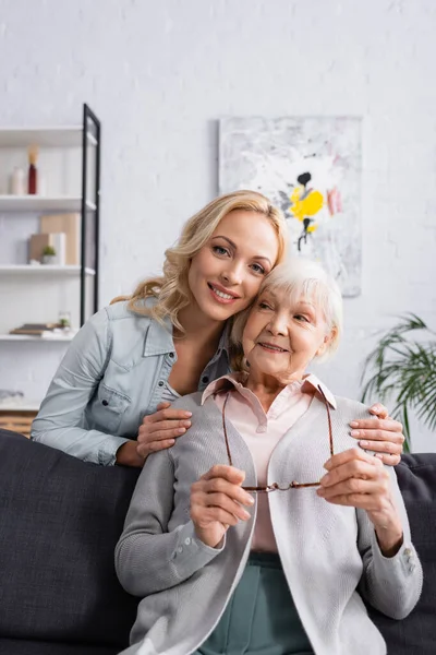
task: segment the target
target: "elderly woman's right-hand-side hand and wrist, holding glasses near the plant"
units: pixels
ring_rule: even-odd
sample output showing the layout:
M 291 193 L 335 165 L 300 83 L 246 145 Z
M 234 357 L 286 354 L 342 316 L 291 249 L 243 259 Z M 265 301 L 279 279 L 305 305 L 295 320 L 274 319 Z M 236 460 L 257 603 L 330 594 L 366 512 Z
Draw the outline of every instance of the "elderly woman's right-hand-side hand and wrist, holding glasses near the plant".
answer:
M 317 495 L 334 504 L 365 510 L 382 552 L 392 557 L 402 544 L 402 526 L 380 460 L 353 448 L 334 455 L 324 466 L 328 473 Z

